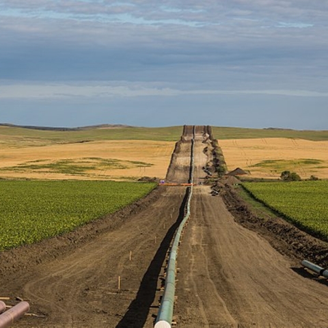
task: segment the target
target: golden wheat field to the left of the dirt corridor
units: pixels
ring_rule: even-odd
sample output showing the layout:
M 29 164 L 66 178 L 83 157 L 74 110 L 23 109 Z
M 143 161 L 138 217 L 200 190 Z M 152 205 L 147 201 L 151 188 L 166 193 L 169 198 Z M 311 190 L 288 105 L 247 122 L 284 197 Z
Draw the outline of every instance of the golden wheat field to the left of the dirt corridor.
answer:
M 0 148 L 1 178 L 165 178 L 174 142 L 113 140 Z

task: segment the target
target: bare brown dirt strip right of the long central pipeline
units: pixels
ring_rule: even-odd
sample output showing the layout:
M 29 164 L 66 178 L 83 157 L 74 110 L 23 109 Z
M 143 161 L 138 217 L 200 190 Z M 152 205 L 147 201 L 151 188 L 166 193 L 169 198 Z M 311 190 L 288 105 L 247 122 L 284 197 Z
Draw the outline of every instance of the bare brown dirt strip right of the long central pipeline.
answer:
M 239 225 L 208 187 L 194 190 L 178 254 L 178 327 L 327 327 L 327 281 Z

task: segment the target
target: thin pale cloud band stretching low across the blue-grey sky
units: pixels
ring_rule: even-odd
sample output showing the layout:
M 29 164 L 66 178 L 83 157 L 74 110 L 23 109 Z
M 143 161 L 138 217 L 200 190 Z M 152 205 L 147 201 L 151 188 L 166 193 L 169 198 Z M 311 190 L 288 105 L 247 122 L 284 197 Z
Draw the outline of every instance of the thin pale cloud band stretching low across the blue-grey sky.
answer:
M 159 83 L 158 83 L 159 84 Z M 0 99 L 59 99 L 112 98 L 141 96 L 195 96 L 195 95 L 269 95 L 296 97 L 328 97 L 328 92 L 309 90 L 179 90 L 154 83 L 70 83 L 70 84 L 2 84 Z

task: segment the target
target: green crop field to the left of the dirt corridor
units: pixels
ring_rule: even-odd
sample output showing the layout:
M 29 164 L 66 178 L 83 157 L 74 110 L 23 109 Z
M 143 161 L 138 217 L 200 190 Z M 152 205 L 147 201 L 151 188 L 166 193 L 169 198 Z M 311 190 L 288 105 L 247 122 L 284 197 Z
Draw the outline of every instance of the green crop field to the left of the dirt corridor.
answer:
M 114 213 L 154 189 L 153 183 L 0 181 L 0 251 L 36 243 Z

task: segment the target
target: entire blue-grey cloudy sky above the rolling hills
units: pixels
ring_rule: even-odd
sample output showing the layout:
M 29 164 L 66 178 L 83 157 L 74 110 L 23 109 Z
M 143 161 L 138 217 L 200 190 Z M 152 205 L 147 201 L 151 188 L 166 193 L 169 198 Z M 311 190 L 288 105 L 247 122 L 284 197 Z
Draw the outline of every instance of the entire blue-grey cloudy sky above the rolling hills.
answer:
M 0 0 L 0 122 L 328 130 L 328 0 Z

